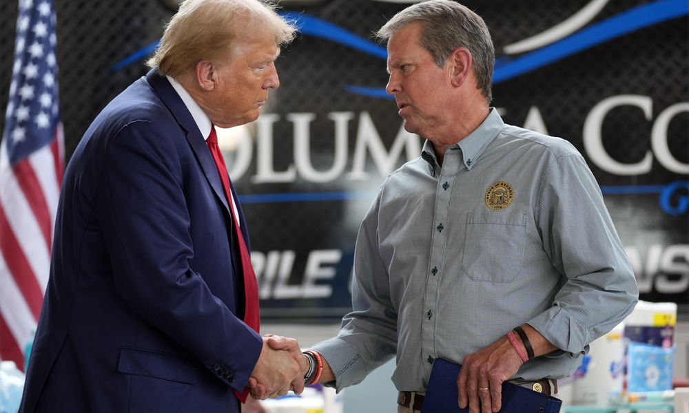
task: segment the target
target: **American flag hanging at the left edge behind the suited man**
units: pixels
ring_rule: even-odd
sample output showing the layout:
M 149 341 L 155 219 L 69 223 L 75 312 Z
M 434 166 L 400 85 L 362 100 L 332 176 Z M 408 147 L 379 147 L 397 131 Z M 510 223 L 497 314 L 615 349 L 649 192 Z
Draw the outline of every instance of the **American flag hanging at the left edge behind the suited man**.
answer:
M 0 359 L 23 368 L 41 313 L 63 173 L 52 0 L 19 3 L 0 142 Z

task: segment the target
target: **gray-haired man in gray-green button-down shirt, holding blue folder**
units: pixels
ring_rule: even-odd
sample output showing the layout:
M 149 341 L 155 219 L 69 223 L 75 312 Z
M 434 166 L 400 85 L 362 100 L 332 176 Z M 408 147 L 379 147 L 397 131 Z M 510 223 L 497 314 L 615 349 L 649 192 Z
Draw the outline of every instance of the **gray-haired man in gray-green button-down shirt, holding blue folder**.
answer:
M 418 3 L 378 34 L 387 92 L 426 143 L 362 222 L 353 311 L 313 346 L 318 381 L 341 390 L 396 355 L 399 412 L 415 412 L 441 357 L 463 365 L 472 413 L 500 410 L 507 380 L 553 394 L 638 299 L 598 184 L 569 142 L 489 106 L 493 44 L 471 10 Z

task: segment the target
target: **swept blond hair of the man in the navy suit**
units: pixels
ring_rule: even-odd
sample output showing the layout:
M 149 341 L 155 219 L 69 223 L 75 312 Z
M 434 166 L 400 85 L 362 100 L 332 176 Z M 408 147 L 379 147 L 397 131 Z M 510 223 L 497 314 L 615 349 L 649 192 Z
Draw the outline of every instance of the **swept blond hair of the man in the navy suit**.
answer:
M 238 19 L 246 19 L 245 23 Z M 276 13 L 276 6 L 259 0 L 186 0 L 165 26 L 163 39 L 146 61 L 163 76 L 175 78 L 202 60 L 226 53 L 242 30 L 264 28 L 278 46 L 292 41 L 296 28 Z

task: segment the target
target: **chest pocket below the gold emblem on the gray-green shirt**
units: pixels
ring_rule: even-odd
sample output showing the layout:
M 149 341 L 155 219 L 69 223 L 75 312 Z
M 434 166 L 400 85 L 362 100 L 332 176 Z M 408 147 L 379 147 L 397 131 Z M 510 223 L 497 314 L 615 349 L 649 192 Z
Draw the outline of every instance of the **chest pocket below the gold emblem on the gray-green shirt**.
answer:
M 526 213 L 468 213 L 462 270 L 474 281 L 508 283 L 524 260 Z

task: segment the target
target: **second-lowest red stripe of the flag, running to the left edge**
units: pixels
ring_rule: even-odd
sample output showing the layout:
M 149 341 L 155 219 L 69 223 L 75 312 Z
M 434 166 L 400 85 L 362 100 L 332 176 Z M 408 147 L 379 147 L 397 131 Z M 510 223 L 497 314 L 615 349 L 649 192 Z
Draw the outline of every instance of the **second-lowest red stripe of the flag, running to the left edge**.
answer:
M 31 313 L 36 319 L 39 319 L 41 314 L 41 306 L 43 305 L 43 293 L 41 293 L 41 286 L 34 275 L 34 271 L 31 269 L 24 251 L 19 246 L 17 242 L 17 237 L 12 231 L 12 227 L 7 221 L 7 216 L 5 215 L 5 210 L 0 204 L 0 251 L 3 257 L 5 257 L 5 262 L 7 268 L 14 278 L 14 282 L 17 283 L 17 287 L 21 291 L 21 295 L 26 301 L 26 305 L 31 310 Z

